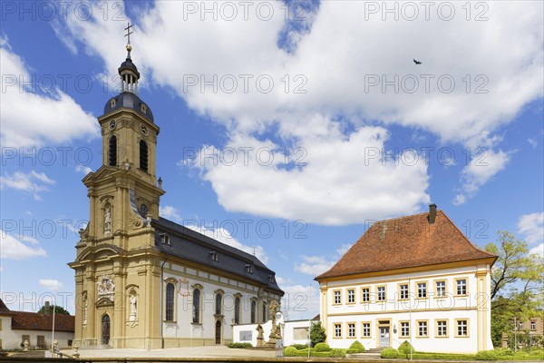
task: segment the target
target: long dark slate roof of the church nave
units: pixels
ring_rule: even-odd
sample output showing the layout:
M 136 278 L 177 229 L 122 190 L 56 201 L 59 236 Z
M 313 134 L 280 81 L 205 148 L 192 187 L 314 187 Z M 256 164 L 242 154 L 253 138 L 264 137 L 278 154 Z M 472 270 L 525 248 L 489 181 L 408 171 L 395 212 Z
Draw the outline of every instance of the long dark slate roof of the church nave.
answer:
M 151 225 L 155 228 L 155 247 L 160 252 L 253 280 L 283 295 L 277 286 L 276 273 L 252 254 L 164 218 L 151 221 Z M 169 235 L 170 244 L 164 243 L 163 233 Z M 212 252 L 217 254 L 217 260 L 212 258 Z

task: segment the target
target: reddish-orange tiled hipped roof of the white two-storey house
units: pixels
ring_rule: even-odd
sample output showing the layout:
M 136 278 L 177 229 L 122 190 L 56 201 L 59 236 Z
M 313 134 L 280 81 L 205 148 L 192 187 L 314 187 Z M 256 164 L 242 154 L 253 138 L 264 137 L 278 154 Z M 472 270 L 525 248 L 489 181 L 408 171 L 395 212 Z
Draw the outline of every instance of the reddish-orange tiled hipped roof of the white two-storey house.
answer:
M 478 249 L 443 211 L 375 222 L 332 269 L 315 280 L 466 260 L 496 259 Z M 493 260 L 494 262 L 494 260 Z

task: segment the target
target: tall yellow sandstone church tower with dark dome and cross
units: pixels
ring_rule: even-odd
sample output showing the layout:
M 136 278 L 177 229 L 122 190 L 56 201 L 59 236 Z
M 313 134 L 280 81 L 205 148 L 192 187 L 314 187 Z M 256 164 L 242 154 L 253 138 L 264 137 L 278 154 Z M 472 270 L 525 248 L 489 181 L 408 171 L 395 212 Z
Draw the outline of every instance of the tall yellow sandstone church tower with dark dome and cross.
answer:
M 140 73 L 131 60 L 130 28 L 127 58 L 119 67 L 121 93 L 108 100 L 98 117 L 102 166 L 83 178 L 89 223 L 80 231 L 76 260 L 69 264 L 75 270 L 74 344 L 79 346 L 125 348 L 132 339 L 151 348 L 146 337 L 160 335 L 159 315 L 153 311 L 158 307 L 150 298 L 160 296 L 151 226 L 159 219 L 164 194 L 156 177 L 159 126 L 138 96 Z

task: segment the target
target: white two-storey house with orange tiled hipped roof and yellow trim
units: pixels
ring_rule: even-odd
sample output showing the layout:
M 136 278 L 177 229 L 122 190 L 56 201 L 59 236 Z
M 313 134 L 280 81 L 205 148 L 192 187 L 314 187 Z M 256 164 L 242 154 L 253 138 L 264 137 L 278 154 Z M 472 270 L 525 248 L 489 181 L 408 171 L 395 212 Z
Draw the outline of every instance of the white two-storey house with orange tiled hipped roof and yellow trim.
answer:
M 377 221 L 316 280 L 332 348 L 492 349 L 491 266 L 443 211 Z

